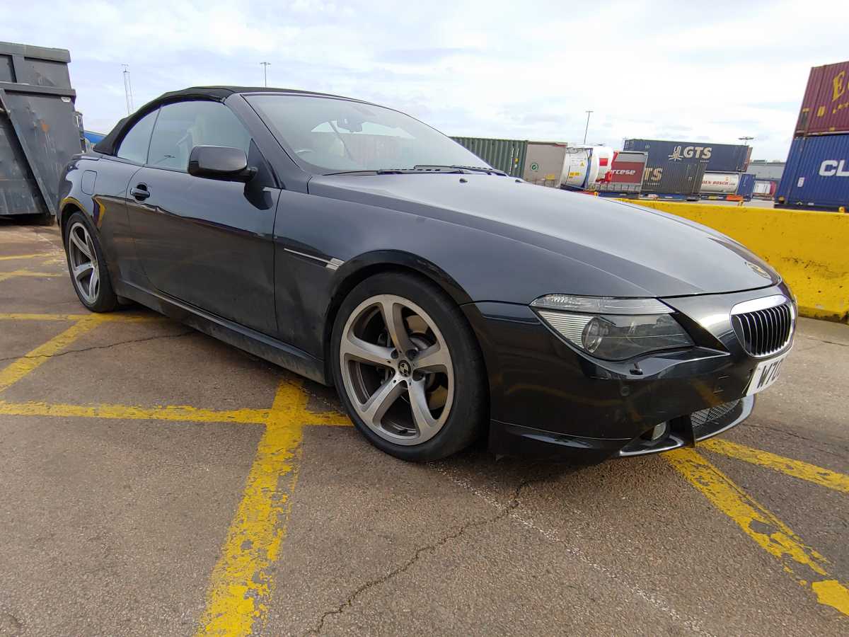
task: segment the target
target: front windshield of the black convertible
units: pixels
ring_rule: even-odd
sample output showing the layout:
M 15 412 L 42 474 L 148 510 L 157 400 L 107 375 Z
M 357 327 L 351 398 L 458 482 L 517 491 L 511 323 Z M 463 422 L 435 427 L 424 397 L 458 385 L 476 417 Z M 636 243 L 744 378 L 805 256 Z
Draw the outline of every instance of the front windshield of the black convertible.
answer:
M 487 166 L 441 132 L 396 110 L 303 95 L 245 96 L 280 144 L 316 172 Z

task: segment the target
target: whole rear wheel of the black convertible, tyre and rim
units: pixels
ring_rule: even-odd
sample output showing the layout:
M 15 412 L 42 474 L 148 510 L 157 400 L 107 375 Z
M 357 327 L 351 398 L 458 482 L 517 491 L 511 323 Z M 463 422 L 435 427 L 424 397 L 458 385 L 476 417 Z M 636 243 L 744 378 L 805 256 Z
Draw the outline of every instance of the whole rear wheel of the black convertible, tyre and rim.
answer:
M 80 302 L 92 312 L 111 312 L 118 305 L 97 233 L 82 212 L 68 219 L 65 255 L 71 284 Z

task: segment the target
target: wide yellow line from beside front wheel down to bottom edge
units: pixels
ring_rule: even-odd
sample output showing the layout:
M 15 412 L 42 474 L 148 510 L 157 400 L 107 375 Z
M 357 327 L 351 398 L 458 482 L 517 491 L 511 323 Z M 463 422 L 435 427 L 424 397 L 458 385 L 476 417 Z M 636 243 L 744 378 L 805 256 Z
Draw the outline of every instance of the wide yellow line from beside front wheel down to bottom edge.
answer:
M 256 448 L 245 492 L 212 571 L 198 635 L 248 635 L 267 621 L 271 567 L 286 537 L 298 477 L 306 394 L 283 381 Z

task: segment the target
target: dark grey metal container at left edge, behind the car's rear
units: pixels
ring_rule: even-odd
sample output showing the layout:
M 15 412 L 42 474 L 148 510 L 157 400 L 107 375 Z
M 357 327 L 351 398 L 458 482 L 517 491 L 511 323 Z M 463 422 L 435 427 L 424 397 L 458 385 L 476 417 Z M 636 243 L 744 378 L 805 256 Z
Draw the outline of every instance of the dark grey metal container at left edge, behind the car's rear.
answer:
M 70 54 L 0 42 L 0 215 L 56 214 L 59 173 L 82 152 Z

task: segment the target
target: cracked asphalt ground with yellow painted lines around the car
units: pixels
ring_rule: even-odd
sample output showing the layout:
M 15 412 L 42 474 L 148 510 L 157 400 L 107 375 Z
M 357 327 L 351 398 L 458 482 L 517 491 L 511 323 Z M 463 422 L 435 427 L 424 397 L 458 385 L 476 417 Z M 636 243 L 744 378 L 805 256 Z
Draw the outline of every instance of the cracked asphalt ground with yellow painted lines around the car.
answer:
M 0 634 L 849 634 L 849 326 L 714 442 L 427 465 L 0 222 Z

